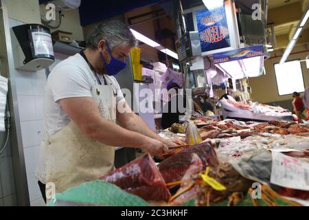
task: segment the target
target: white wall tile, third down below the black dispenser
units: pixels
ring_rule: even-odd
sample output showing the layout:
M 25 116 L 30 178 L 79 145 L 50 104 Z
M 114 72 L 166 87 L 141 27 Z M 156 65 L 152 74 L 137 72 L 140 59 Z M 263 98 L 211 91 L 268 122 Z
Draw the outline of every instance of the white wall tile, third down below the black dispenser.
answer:
M 37 121 L 21 122 L 23 148 L 40 145 L 40 140 L 38 139 L 40 131 L 37 124 Z

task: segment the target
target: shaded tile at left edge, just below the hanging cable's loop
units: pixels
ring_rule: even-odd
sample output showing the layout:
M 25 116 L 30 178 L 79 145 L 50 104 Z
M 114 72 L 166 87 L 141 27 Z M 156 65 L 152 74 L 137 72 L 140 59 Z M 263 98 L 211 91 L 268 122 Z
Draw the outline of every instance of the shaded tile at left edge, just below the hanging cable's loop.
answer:
M 13 176 L 13 164 L 12 157 L 0 158 L 0 176 L 2 184 L 3 197 L 14 194 L 14 176 Z

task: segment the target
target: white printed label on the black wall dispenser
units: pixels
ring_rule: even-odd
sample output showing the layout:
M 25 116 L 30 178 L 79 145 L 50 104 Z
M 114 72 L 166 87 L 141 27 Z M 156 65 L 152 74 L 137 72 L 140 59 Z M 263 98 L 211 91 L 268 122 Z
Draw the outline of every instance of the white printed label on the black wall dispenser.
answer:
M 54 56 L 52 35 L 45 32 L 32 32 L 32 40 L 34 45 L 34 54 L 52 55 Z

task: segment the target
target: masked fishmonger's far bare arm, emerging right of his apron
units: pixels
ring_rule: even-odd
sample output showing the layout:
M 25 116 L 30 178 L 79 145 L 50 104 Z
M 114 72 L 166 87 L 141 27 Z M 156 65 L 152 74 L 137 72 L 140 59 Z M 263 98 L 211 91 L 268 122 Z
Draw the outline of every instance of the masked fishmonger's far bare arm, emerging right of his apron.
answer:
M 176 144 L 164 140 L 162 137 L 157 135 L 154 131 L 150 129 L 150 127 L 143 121 L 141 118 L 136 115 L 128 106 L 126 102 L 119 103 L 119 106 L 122 107 L 121 111 L 118 111 L 117 108 L 117 122 L 122 126 L 124 129 L 128 129 L 130 131 L 135 131 L 137 133 L 141 133 L 146 135 L 147 137 L 151 137 L 155 140 L 159 140 L 168 146 L 175 146 Z

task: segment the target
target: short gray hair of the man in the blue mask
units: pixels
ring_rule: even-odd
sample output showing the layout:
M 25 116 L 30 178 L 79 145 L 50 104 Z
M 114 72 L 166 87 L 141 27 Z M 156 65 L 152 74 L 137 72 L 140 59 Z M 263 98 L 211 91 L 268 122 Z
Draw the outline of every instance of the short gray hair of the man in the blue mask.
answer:
M 102 39 L 108 42 L 109 47 L 129 45 L 135 47 L 137 41 L 130 29 L 121 21 L 113 20 L 100 23 L 89 34 L 87 47 L 96 50 Z

